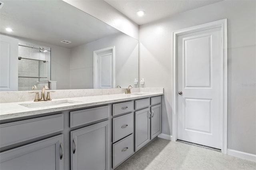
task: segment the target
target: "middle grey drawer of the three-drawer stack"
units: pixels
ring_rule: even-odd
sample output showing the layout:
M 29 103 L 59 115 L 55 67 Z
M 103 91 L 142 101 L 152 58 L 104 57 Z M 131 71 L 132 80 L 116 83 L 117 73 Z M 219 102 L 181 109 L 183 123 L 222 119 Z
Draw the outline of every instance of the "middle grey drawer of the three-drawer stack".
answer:
M 113 142 L 124 138 L 128 134 L 133 133 L 134 121 L 133 113 L 113 118 Z

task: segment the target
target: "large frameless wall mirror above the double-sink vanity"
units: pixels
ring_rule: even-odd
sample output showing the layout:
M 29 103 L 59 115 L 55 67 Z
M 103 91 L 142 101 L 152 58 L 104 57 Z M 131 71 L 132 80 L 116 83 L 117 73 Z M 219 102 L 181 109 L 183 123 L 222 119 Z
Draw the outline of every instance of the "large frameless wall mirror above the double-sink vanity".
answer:
M 128 87 L 138 79 L 138 40 L 62 0 L 1 2 L 0 91 Z

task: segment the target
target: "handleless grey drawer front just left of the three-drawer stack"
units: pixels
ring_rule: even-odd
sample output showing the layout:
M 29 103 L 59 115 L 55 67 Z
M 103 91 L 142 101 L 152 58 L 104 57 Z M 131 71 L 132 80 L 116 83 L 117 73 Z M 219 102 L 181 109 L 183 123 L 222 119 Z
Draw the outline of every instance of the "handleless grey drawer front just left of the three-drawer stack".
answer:
M 94 107 L 70 112 L 70 127 L 77 127 L 109 118 L 110 106 Z

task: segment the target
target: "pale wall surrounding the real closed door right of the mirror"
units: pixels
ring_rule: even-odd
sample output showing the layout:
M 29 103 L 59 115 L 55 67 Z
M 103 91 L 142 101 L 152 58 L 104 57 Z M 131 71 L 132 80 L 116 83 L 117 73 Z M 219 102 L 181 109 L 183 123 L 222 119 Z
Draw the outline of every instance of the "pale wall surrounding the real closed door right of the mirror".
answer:
M 172 132 L 172 32 L 228 19 L 228 148 L 256 154 L 256 1 L 222 1 L 140 26 L 140 77 L 164 87 L 162 132 Z M 152 65 L 154 69 L 152 69 Z

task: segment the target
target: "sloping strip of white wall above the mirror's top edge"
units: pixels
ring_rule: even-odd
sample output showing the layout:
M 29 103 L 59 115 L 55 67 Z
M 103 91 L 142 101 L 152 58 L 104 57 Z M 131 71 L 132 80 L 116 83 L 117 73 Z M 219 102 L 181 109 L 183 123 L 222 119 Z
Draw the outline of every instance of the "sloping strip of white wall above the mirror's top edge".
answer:
M 64 1 L 138 40 L 139 26 L 104 0 Z

